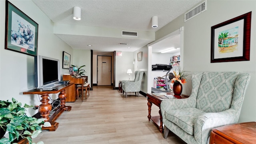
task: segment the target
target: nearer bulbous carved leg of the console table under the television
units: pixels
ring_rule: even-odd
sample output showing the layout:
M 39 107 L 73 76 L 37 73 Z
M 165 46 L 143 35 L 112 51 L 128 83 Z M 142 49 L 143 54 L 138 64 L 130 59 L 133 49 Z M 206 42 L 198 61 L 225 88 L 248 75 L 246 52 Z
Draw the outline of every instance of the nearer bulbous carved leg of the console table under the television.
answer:
M 42 104 L 39 105 L 38 107 L 38 112 L 40 112 L 40 115 L 42 116 L 42 118 L 46 118 L 46 120 L 44 120 L 45 122 L 46 121 L 49 121 L 49 114 L 50 114 L 50 111 L 52 110 L 52 105 L 49 104 L 49 99 L 48 99 L 48 94 L 42 94 L 41 95 L 41 98 L 42 100 L 40 100 L 40 102 Z

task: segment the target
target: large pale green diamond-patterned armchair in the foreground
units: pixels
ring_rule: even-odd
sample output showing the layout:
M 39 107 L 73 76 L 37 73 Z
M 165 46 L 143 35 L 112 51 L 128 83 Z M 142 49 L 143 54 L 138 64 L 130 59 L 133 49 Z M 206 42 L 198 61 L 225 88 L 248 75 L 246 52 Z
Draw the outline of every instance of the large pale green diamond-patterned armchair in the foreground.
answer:
M 169 130 L 188 144 L 209 144 L 213 128 L 238 122 L 250 74 L 197 72 L 192 93 L 161 103 L 164 138 Z

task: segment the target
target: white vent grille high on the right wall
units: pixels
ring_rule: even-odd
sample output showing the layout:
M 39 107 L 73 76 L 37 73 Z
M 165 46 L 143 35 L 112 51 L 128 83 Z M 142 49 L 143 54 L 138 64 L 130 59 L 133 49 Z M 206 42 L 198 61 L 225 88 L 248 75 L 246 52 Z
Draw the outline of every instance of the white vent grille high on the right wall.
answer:
M 204 11 L 206 11 L 206 0 L 192 8 L 190 11 L 186 12 L 184 14 L 184 22 L 190 20 L 191 18 L 194 18 L 195 16 L 201 14 Z

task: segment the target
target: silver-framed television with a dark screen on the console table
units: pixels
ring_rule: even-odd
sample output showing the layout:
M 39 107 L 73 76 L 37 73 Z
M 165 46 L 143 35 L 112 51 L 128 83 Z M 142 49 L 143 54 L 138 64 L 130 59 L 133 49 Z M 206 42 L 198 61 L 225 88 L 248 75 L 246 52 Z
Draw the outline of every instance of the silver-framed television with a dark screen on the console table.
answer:
M 52 88 L 60 81 L 60 60 L 46 56 L 35 56 L 36 88 Z

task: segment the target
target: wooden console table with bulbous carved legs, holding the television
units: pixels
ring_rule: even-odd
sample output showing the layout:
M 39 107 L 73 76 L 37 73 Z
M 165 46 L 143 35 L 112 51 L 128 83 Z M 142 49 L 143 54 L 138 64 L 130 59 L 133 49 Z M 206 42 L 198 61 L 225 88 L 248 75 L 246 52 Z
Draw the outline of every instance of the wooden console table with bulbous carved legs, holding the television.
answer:
M 60 86 L 56 86 L 55 90 L 28 90 L 26 92 L 23 92 L 23 94 L 39 94 L 41 95 L 42 100 L 40 102 L 42 104 L 39 105 L 38 107 L 38 112 L 40 113 L 41 118 L 45 118 L 45 122 L 48 121 L 51 123 L 51 127 L 42 127 L 42 130 L 49 130 L 49 131 L 55 131 L 58 128 L 59 123 L 55 122 L 55 120 L 62 114 L 64 111 L 70 111 L 71 106 L 66 106 L 66 88 L 74 86 L 74 83 L 69 83 L 69 84 L 62 84 Z M 52 110 L 52 105 L 49 104 L 49 94 L 56 94 L 60 92 L 58 97 L 60 98 L 60 108 L 52 114 L 52 116 L 49 117 L 50 111 Z M 39 114 L 38 114 L 39 115 Z M 40 116 L 36 116 L 36 118 L 40 118 Z

